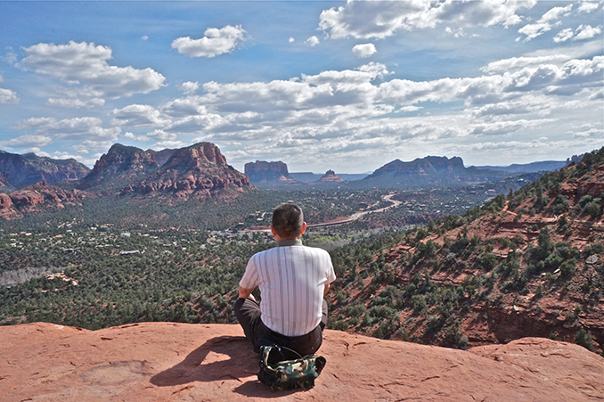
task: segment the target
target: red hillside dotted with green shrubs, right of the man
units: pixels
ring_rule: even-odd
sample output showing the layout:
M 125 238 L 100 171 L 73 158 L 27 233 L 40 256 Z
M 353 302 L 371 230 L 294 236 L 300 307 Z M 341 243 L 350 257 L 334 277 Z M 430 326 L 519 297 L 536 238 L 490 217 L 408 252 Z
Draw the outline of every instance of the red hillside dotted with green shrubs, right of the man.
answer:
M 604 346 L 604 148 L 464 217 L 332 252 L 332 326 L 456 348 Z

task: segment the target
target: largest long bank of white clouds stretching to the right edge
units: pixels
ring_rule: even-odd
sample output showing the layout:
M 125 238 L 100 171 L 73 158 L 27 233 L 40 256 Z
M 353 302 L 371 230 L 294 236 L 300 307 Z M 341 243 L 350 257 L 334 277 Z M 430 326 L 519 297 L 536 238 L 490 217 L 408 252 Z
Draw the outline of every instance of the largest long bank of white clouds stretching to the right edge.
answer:
M 337 154 L 346 164 L 345 157 L 356 152 L 383 158 L 385 149 L 403 152 L 451 137 L 534 133 L 557 127 L 553 120 L 570 110 L 601 112 L 603 56 L 526 56 L 490 63 L 483 71 L 472 78 L 386 80 L 386 66 L 373 62 L 289 80 L 207 82 L 197 94 L 159 108 L 173 121 L 147 138 L 164 144 L 195 135 L 241 144 L 244 151 L 227 154 L 235 163 L 272 156 L 294 163 L 303 147 L 313 154 L 307 163 Z M 463 111 L 426 119 L 426 103 L 460 102 Z

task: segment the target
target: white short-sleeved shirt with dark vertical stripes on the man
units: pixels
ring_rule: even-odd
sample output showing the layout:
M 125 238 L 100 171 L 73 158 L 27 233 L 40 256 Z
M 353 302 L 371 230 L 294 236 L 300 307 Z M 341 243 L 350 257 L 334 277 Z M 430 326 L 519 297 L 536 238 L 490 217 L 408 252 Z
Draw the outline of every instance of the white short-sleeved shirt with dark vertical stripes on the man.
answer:
M 260 288 L 260 318 L 268 328 L 285 336 L 305 335 L 321 322 L 324 286 L 336 274 L 327 251 L 299 240 L 279 243 L 249 258 L 239 284 Z

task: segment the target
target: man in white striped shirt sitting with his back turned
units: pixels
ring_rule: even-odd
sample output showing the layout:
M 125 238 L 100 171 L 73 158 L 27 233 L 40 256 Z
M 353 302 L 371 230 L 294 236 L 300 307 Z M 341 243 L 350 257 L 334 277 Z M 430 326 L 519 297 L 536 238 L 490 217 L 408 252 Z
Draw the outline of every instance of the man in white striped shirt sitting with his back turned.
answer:
M 336 275 L 327 251 L 302 245 L 305 231 L 302 210 L 284 204 L 273 211 L 271 232 L 278 247 L 249 258 L 234 312 L 256 352 L 268 341 L 305 356 L 322 344 L 327 324 L 323 296 Z M 256 286 L 260 303 L 251 294 Z

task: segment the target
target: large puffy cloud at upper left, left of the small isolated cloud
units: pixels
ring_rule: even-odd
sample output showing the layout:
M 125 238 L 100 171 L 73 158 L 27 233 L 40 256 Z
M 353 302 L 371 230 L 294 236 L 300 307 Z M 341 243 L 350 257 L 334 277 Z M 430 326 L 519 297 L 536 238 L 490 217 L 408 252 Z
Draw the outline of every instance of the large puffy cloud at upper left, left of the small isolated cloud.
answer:
M 23 70 L 34 70 L 69 85 L 74 98 L 121 98 L 133 94 L 148 94 L 164 85 L 166 78 L 150 68 L 111 66 L 108 46 L 70 41 L 67 45 L 40 43 L 23 49 L 28 55 L 20 61 Z M 49 101 L 69 105 L 67 100 Z M 87 101 L 82 101 L 86 103 Z M 78 106 L 79 103 L 74 102 Z

